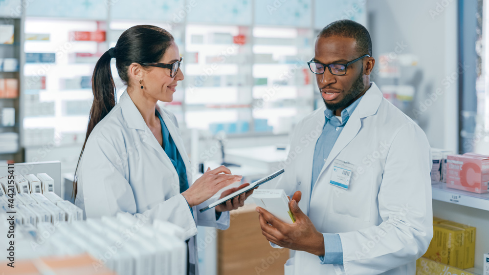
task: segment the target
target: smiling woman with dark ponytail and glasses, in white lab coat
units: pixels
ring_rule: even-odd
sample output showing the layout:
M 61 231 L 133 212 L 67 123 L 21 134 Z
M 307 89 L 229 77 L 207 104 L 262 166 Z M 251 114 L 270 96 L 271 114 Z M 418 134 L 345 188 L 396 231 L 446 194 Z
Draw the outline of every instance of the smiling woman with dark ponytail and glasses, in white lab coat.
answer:
M 112 58 L 127 85 L 117 105 Z M 213 211 L 198 211 L 218 190 L 242 177 L 221 166 L 207 169 L 192 184 L 177 120 L 156 104 L 173 100 L 178 81 L 183 80 L 181 62 L 172 35 L 150 25 L 126 30 L 100 57 L 93 71 L 93 104 L 73 188 L 75 204 L 87 217 L 140 213 L 182 227 L 190 238 L 189 272 L 194 274 L 196 225 L 226 229 L 227 211 L 243 206 L 251 191 Z

